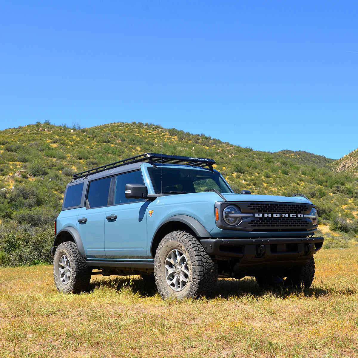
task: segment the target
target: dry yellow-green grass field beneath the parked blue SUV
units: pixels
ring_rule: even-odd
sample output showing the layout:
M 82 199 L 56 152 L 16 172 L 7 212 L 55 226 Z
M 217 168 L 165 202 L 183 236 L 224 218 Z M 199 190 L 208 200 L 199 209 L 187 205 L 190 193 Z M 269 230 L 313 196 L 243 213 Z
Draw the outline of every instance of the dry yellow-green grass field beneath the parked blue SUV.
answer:
M 358 245 L 321 250 L 309 290 L 221 279 L 162 301 L 140 276 L 55 290 L 51 266 L 0 269 L 0 357 L 358 357 Z

